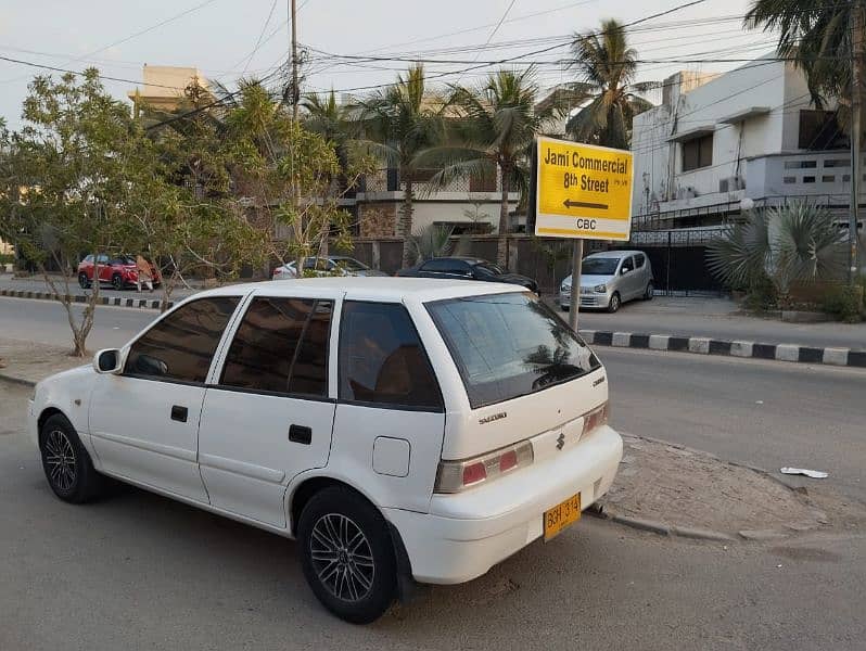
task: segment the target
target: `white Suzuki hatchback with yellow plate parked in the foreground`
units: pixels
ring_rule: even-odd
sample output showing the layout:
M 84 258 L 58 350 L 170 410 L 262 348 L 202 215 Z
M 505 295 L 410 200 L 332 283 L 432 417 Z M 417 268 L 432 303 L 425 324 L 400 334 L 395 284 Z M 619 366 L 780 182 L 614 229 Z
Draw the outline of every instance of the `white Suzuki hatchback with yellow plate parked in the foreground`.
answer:
M 322 278 L 202 292 L 40 382 L 53 492 L 102 475 L 297 538 L 338 616 L 549 540 L 610 487 L 606 371 L 534 294 Z

